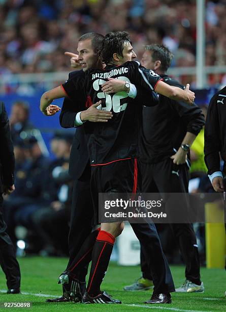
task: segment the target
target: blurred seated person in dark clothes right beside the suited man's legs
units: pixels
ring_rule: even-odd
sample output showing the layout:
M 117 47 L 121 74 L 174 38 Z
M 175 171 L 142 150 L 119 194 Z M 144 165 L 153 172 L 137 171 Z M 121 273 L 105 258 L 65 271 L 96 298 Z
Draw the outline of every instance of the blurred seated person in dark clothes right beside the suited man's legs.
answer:
M 51 142 L 56 160 L 50 166 L 51 179 L 57 185 L 57 198 L 31 216 L 43 242 L 42 255 L 67 255 L 73 181 L 68 173 L 73 136 L 56 134 Z

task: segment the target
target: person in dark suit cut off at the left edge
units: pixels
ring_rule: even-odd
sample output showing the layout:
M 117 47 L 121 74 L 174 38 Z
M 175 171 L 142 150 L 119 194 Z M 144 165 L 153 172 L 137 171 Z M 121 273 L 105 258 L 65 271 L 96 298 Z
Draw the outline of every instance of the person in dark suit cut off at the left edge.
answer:
M 8 294 L 20 293 L 20 268 L 3 220 L 3 193 L 6 195 L 15 190 L 14 166 L 9 119 L 4 103 L 0 102 L 0 265 L 6 275 Z

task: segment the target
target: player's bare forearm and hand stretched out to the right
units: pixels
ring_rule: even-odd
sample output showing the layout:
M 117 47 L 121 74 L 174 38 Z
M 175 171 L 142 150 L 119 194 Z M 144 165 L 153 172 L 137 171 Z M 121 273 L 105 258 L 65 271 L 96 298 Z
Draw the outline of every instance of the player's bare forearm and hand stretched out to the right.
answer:
M 195 100 L 195 93 L 189 90 L 189 84 L 182 90 L 181 88 L 170 86 L 163 81 L 159 81 L 154 91 L 176 101 L 184 101 L 189 105 L 193 105 Z

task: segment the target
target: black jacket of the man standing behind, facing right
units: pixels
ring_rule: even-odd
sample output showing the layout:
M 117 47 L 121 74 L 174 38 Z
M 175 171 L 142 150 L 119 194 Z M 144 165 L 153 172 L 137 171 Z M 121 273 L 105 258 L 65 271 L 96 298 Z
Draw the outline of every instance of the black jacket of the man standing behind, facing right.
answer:
M 184 89 L 168 75 L 162 77 L 165 83 Z M 140 157 L 143 163 L 157 163 L 170 157 L 180 147 L 186 132 L 198 135 L 205 123 L 197 106 L 163 95 L 158 100 L 158 106 L 143 108 Z

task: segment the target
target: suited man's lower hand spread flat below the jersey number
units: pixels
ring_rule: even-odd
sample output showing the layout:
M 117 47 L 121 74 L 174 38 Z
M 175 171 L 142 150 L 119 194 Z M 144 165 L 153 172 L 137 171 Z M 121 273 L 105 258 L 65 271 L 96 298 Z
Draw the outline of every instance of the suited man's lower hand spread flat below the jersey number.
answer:
M 112 119 L 112 112 L 98 110 L 99 105 L 101 105 L 101 101 L 93 104 L 86 111 L 82 111 L 80 114 L 81 121 L 107 122 Z

